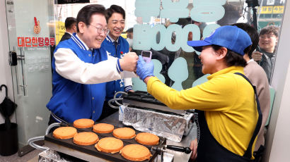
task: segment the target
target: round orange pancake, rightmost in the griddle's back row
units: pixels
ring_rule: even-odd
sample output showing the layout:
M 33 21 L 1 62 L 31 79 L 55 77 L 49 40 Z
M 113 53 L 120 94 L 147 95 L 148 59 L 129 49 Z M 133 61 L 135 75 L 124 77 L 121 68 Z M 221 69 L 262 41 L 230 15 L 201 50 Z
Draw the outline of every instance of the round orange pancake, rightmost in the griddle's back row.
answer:
M 149 132 L 140 132 L 135 139 L 139 144 L 146 145 L 156 145 L 159 142 L 159 137 Z

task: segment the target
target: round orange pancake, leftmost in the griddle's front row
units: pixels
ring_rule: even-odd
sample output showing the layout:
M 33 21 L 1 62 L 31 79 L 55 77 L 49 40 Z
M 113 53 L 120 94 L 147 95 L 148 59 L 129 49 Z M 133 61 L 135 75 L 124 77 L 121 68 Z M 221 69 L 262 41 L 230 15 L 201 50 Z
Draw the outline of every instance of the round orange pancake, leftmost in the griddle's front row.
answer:
M 70 139 L 74 137 L 76 133 L 76 128 L 74 127 L 58 127 L 52 132 L 52 135 L 57 139 Z

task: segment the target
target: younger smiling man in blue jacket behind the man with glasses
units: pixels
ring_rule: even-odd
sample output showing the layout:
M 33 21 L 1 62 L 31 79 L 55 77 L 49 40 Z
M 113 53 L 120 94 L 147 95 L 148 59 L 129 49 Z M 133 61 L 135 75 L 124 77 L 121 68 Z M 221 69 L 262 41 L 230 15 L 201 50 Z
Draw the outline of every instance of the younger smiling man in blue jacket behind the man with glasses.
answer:
M 107 54 L 110 56 L 122 58 L 129 52 L 129 44 L 127 40 L 121 37 L 125 26 L 125 11 L 121 6 L 112 5 L 106 10 L 106 16 L 108 19 L 108 30 L 110 32 L 107 37 L 105 37 L 102 48 L 105 49 Z M 112 113 L 118 111 L 118 109 L 111 108 L 108 104 L 108 101 L 114 97 L 115 93 L 128 91 L 132 91 L 132 78 L 107 82 L 103 113 L 100 119 L 110 116 Z M 113 102 L 112 104 L 115 103 Z

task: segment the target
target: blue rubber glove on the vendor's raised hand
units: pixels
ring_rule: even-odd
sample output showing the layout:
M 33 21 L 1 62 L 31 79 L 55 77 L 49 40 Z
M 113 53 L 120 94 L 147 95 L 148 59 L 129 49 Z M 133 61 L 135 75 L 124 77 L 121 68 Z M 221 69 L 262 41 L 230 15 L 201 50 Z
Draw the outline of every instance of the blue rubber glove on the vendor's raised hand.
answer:
M 142 56 L 139 56 L 139 60 L 137 61 L 137 70 L 136 73 L 140 77 L 141 80 L 144 80 L 146 77 L 154 76 L 153 75 L 154 64 L 152 61 L 150 63 L 146 63 Z

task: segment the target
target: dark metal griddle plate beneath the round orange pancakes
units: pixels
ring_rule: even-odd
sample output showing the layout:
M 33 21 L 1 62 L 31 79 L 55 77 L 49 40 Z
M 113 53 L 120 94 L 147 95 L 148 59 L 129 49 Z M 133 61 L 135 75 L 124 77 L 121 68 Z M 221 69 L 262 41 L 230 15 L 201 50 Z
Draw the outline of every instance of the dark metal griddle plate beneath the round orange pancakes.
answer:
M 118 127 L 115 127 L 115 129 L 116 128 L 118 128 Z M 134 128 L 132 128 L 132 129 L 134 129 Z M 86 129 L 78 129 L 77 128 L 77 131 L 78 132 L 93 132 L 93 128 L 92 127 L 86 128 Z M 139 133 L 138 130 L 135 130 L 135 132 L 136 132 L 136 135 Z M 105 133 L 105 134 L 100 134 L 100 133 L 96 133 L 96 132 L 94 132 L 94 133 L 98 135 L 99 139 L 102 139 L 104 137 L 114 137 L 112 135 L 112 132 Z M 100 152 L 97 149 L 95 149 L 95 144 L 90 145 L 90 146 L 81 146 L 78 144 L 74 144 L 73 138 L 71 138 L 71 139 L 56 139 L 53 137 L 52 132 L 48 135 L 45 135 L 45 141 L 52 142 L 54 144 L 59 144 L 59 145 L 62 145 L 64 147 L 69 147 L 70 149 L 75 149 L 77 151 L 81 151 L 81 152 L 86 153 L 86 154 L 91 154 L 91 155 L 97 156 L 99 158 L 104 158 L 104 159 L 109 160 L 109 161 L 129 161 L 119 153 L 108 154 L 108 153 Z M 139 144 L 136 142 L 136 140 L 134 138 L 133 139 L 122 139 L 122 141 L 124 143 L 124 146 L 126 146 L 128 144 Z M 166 144 L 166 138 L 159 137 L 159 144 L 158 145 L 163 145 L 163 144 Z M 151 146 L 144 145 L 144 147 L 147 147 L 151 151 Z M 151 151 L 151 154 L 152 154 L 151 158 L 149 160 L 146 160 L 146 161 L 153 161 L 153 159 L 157 156 L 156 151 Z

